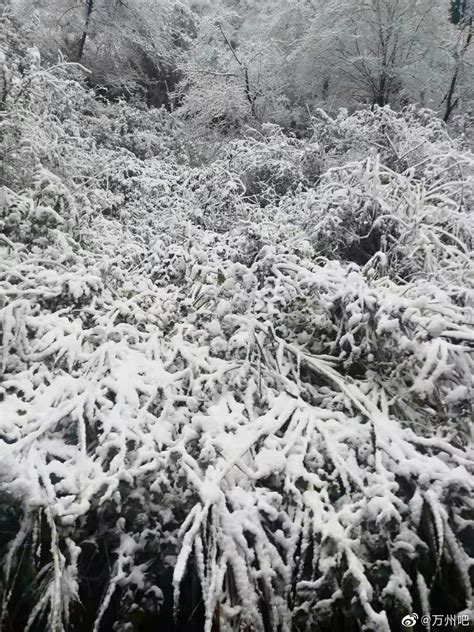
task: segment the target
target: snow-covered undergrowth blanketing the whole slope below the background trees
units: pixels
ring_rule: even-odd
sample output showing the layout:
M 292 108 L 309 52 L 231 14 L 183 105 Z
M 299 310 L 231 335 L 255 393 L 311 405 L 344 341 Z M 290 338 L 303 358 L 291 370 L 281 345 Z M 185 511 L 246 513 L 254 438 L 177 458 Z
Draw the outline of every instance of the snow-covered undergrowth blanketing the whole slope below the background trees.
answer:
M 9 41 L 0 629 L 470 608 L 462 139 L 428 111 L 319 112 L 196 166 L 170 115 Z

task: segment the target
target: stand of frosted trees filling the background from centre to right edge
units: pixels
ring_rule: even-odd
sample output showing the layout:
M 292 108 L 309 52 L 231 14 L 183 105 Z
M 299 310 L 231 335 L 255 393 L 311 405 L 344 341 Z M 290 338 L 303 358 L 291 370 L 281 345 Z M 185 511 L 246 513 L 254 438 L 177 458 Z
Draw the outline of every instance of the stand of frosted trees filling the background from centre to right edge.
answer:
M 216 0 L 181 65 L 183 115 L 294 129 L 318 107 L 472 115 L 472 17 L 448 0 Z M 255 123 L 254 123 L 255 124 Z

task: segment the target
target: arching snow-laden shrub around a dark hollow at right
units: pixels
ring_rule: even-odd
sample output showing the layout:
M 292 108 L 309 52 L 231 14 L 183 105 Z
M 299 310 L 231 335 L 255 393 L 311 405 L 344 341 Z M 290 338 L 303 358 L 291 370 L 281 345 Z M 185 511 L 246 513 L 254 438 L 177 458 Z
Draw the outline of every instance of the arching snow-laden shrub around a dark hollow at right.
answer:
M 465 165 L 472 169 L 472 158 Z M 303 222 L 323 255 L 358 264 L 376 257 L 385 274 L 436 275 L 444 287 L 463 287 L 474 224 L 459 186 L 431 187 L 378 158 L 353 162 L 328 170 L 306 194 Z

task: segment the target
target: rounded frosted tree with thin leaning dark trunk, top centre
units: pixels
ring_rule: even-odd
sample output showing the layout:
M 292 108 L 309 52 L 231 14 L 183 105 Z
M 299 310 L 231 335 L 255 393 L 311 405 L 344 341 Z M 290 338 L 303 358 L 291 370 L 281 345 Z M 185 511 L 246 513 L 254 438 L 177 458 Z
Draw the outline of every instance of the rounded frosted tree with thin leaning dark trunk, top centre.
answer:
M 278 44 L 258 31 L 247 37 L 241 22 L 229 11 L 204 17 L 180 65 L 178 114 L 201 133 L 232 133 L 256 119 L 290 119 Z

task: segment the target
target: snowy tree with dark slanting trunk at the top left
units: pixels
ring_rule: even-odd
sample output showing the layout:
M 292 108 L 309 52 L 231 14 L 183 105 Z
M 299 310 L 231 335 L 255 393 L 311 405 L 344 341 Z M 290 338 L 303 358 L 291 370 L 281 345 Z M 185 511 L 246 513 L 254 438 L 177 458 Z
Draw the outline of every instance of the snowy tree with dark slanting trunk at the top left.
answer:
M 61 52 L 90 71 L 90 83 L 112 96 L 137 89 L 161 105 L 195 31 L 195 16 L 179 0 L 18 0 L 14 15 L 47 59 Z

